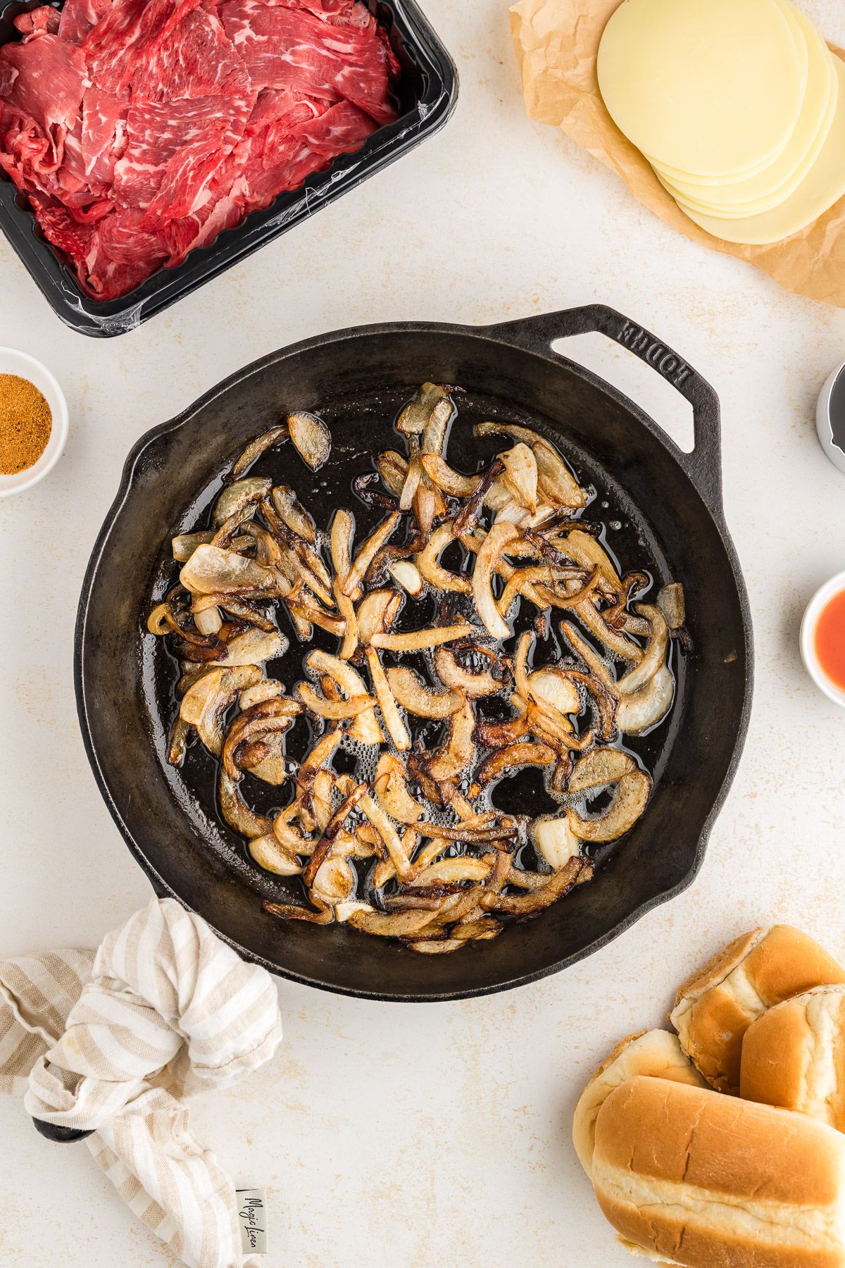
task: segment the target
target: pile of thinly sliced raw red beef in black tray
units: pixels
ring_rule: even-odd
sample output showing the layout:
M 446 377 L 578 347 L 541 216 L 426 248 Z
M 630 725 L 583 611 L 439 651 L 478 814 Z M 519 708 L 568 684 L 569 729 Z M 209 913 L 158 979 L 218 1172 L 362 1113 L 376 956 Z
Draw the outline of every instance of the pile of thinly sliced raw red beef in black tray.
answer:
M 113 299 L 395 118 L 361 0 L 66 0 L 0 48 L 0 169 Z

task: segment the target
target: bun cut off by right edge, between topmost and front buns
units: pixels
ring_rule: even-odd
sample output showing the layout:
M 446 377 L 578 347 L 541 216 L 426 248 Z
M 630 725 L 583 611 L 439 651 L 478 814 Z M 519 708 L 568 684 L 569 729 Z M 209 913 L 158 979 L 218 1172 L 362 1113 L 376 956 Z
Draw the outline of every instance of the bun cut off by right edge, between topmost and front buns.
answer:
M 749 1026 L 740 1096 L 845 1131 L 845 987 L 817 987 Z

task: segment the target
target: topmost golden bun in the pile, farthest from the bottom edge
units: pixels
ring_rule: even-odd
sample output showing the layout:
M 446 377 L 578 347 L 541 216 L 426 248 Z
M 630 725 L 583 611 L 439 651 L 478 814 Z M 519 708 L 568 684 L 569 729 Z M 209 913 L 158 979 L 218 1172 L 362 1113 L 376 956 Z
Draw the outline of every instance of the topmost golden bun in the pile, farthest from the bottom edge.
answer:
M 720 1092 L 740 1090 L 742 1036 L 774 1004 L 845 973 L 817 942 L 788 924 L 753 929 L 679 987 L 670 1013 L 680 1046 Z

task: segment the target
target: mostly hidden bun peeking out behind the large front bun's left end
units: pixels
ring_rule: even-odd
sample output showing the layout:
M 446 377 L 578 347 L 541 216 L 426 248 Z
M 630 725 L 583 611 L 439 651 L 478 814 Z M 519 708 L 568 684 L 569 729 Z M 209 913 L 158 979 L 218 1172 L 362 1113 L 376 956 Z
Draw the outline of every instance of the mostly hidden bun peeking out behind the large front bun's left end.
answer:
M 573 1144 L 588 1175 L 593 1169 L 598 1112 L 613 1088 L 637 1074 L 706 1087 L 698 1070 L 682 1052 L 678 1036 L 670 1031 L 641 1031 L 623 1038 L 599 1065 L 575 1106 Z

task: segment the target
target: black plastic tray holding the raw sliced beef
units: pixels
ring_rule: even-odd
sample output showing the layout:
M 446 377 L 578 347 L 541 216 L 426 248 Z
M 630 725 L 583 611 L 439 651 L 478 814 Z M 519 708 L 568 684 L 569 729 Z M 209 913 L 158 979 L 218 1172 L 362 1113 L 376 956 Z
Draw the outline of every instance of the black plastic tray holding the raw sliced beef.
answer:
M 11 19 L 42 3 L 0 0 L 0 44 L 20 38 Z M 134 330 L 326 203 L 355 189 L 446 123 L 457 100 L 457 72 L 431 23 L 414 0 L 366 3 L 386 28 L 402 65 L 399 118 L 374 132 L 355 153 L 341 155 L 326 171 L 308 176 L 299 189 L 279 194 L 270 207 L 251 212 L 209 246 L 191 251 L 175 269 L 158 269 L 120 299 L 98 301 L 85 294 L 61 252 L 44 238 L 25 195 L 0 174 L 0 228 L 67 326 L 99 339 Z M 53 6 L 61 9 L 61 0 Z

